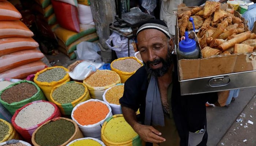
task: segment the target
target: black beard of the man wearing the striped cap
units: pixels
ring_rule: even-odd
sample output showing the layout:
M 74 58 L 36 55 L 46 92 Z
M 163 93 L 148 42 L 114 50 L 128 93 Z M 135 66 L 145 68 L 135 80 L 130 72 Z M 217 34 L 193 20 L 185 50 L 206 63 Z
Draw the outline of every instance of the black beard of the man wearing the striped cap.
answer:
M 162 68 L 159 68 L 159 69 L 150 68 L 150 64 L 155 64 L 155 63 L 160 63 L 160 62 L 162 62 L 162 64 L 163 64 Z M 167 73 L 172 62 L 173 62 L 172 53 L 168 49 L 168 53 L 166 55 L 166 60 L 163 58 L 159 58 L 159 59 L 154 59 L 153 61 L 147 61 L 146 64 L 145 63 L 144 64 L 145 64 L 145 67 L 146 67 L 146 70 L 148 73 L 150 73 L 152 76 L 155 76 L 155 77 L 161 77 L 165 73 Z

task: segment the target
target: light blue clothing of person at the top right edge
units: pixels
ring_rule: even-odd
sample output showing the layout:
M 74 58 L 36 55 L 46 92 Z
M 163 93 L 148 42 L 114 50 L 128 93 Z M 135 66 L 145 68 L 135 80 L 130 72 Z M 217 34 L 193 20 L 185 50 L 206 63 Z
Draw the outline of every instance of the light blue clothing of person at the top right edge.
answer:
M 256 21 L 256 0 L 252 1 L 255 4 L 249 5 L 247 11 L 242 15 L 242 17 L 245 18 L 245 20 L 248 20 L 247 25 L 250 31 L 252 31 L 253 24 Z

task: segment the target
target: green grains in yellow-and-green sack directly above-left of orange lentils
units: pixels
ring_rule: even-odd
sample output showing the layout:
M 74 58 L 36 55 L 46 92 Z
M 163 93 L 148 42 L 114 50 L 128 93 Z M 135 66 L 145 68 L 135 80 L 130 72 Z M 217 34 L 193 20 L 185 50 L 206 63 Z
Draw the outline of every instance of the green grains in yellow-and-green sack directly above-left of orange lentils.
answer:
M 83 95 L 85 88 L 76 82 L 66 83 L 52 92 L 52 98 L 60 104 L 71 103 Z

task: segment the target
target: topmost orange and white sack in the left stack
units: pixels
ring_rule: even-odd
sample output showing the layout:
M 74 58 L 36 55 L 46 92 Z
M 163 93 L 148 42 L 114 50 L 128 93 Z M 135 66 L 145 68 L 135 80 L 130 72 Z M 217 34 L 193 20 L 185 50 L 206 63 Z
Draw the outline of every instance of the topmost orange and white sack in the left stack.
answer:
M 0 1 L 0 20 L 19 20 L 20 12 L 9 1 Z

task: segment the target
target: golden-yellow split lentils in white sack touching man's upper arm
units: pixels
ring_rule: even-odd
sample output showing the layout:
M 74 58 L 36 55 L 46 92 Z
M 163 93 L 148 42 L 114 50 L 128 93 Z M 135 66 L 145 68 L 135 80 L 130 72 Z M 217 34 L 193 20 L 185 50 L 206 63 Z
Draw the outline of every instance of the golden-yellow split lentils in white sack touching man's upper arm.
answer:
M 119 99 L 124 94 L 124 85 L 117 85 L 112 88 L 110 88 L 106 94 L 105 99 L 108 101 L 108 103 L 117 104 L 120 105 Z

